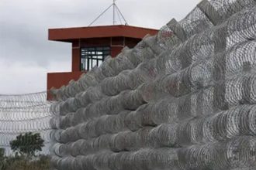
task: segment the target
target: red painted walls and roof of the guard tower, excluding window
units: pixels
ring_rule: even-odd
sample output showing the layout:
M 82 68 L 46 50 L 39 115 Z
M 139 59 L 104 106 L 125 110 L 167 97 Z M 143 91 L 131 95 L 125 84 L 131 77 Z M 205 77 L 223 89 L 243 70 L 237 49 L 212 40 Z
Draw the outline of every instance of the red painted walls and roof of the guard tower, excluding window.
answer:
M 135 26 L 94 26 L 67 29 L 49 29 L 49 40 L 72 43 L 72 72 L 47 73 L 47 90 L 67 85 L 78 80 L 82 73 L 81 47 L 109 46 L 110 55 L 116 57 L 124 46 L 133 48 L 147 34 L 155 35 L 158 30 Z M 50 96 L 48 95 L 48 99 Z

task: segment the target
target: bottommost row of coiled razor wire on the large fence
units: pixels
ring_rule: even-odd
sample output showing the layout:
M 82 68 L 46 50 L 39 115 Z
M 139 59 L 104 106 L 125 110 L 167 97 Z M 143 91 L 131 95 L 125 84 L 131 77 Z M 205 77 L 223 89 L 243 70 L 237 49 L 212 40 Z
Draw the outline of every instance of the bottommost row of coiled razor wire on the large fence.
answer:
M 186 148 L 142 148 L 138 151 L 99 151 L 77 157 L 53 157 L 65 169 L 242 169 L 255 168 L 255 138 L 242 136 Z

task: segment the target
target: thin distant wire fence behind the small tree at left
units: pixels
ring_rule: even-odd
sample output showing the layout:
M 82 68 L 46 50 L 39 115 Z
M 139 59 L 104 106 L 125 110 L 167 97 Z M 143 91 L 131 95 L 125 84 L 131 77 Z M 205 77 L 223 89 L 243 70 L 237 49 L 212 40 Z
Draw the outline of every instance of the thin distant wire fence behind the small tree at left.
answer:
M 45 147 L 43 154 L 50 154 L 50 102 L 47 92 L 0 95 L 0 147 L 12 155 L 10 141 L 26 132 L 40 133 Z

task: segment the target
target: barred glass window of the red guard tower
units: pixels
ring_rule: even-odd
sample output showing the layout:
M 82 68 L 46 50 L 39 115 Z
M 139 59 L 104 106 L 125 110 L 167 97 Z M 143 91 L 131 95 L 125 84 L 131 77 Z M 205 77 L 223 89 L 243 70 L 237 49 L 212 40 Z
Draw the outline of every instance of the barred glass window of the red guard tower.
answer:
M 94 66 L 100 66 L 109 54 L 109 46 L 81 48 L 81 71 L 91 70 Z

